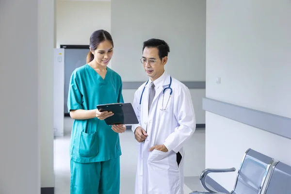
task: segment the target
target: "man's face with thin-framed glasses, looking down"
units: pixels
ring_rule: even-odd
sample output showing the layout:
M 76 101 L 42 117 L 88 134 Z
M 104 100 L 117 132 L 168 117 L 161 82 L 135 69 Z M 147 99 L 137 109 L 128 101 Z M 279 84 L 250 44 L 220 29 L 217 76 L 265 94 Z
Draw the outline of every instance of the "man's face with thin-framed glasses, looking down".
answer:
M 142 62 L 147 76 L 149 76 L 152 81 L 162 76 L 167 59 L 167 57 L 160 59 L 158 48 L 146 47 L 144 49 Z

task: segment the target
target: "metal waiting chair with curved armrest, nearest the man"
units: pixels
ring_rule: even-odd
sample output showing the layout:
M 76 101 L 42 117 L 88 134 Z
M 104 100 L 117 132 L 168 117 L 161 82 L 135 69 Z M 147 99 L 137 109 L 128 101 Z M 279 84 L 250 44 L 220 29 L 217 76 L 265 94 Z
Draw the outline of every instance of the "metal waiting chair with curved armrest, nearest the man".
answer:
M 249 148 L 243 156 L 234 189 L 227 194 L 262 194 L 262 187 L 273 162 L 273 158 Z M 200 180 L 208 192 L 194 191 L 190 194 L 222 194 L 207 187 L 205 178 L 209 173 L 234 172 L 235 170 L 235 168 L 204 170 L 200 175 Z

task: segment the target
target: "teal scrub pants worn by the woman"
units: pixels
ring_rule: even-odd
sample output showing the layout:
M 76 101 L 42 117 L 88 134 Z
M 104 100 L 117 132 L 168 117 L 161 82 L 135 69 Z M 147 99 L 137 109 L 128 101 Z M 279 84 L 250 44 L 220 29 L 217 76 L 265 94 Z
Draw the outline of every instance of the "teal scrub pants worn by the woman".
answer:
M 104 162 L 71 161 L 70 194 L 119 194 L 120 157 Z

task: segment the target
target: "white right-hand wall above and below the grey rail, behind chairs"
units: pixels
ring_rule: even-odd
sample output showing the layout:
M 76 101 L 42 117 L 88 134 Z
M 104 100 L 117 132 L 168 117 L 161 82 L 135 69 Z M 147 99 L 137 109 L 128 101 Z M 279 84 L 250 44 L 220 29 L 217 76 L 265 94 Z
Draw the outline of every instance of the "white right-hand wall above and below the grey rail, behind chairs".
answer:
M 291 118 L 291 1 L 208 0 L 206 26 L 206 97 Z M 249 147 L 291 164 L 290 139 L 208 112 L 206 126 L 207 168 L 238 169 Z M 236 173 L 211 177 L 230 190 Z

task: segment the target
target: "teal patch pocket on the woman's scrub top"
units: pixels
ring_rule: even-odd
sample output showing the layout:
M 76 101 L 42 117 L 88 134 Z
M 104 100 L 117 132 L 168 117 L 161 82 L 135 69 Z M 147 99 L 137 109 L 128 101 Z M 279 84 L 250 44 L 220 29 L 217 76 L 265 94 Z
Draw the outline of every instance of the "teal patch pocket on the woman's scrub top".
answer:
M 83 157 L 93 157 L 98 153 L 98 142 L 96 132 L 85 133 L 81 132 L 79 153 Z

